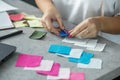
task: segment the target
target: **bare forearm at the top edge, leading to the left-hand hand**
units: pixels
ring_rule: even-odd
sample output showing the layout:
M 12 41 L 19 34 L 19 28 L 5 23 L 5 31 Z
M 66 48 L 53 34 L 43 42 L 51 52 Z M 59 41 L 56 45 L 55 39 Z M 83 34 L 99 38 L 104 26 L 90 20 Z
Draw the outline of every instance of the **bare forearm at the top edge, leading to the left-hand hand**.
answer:
M 49 9 L 55 9 L 52 0 L 35 0 L 35 2 L 43 13 L 47 12 Z

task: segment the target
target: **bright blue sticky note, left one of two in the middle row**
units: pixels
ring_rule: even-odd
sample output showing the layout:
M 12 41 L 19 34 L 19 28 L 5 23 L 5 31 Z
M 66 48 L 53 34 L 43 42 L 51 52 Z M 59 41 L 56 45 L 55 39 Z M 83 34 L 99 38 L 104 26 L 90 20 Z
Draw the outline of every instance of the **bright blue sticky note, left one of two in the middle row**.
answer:
M 48 52 L 50 53 L 57 53 L 64 55 L 69 55 L 70 51 L 71 51 L 71 47 L 65 45 L 57 45 L 57 44 L 51 44 L 48 49 Z

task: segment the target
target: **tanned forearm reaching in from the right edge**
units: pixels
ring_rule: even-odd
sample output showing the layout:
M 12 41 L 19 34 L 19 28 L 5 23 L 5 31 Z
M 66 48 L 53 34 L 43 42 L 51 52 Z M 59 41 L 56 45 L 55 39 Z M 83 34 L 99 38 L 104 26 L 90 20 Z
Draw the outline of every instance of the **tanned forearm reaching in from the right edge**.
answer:
M 120 16 L 117 17 L 96 17 L 100 30 L 111 34 L 120 34 Z

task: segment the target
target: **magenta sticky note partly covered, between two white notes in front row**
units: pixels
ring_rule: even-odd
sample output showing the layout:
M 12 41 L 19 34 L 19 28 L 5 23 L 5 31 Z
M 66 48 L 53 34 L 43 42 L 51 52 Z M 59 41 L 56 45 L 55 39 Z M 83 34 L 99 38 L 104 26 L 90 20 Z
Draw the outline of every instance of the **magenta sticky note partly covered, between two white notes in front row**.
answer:
M 38 74 L 42 74 L 42 75 L 58 76 L 59 69 L 60 69 L 60 64 L 59 63 L 54 63 L 53 66 L 52 66 L 51 71 L 40 71 L 40 70 L 37 70 L 36 72 Z

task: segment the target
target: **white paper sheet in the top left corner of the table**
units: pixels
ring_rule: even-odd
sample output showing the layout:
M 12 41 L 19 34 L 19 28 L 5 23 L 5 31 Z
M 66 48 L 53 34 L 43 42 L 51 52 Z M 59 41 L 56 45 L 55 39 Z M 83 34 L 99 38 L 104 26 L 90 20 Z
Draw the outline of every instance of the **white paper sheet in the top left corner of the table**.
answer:
M 17 9 L 17 8 L 7 4 L 6 2 L 4 2 L 2 0 L 0 0 L 0 12 L 15 10 L 15 9 Z

